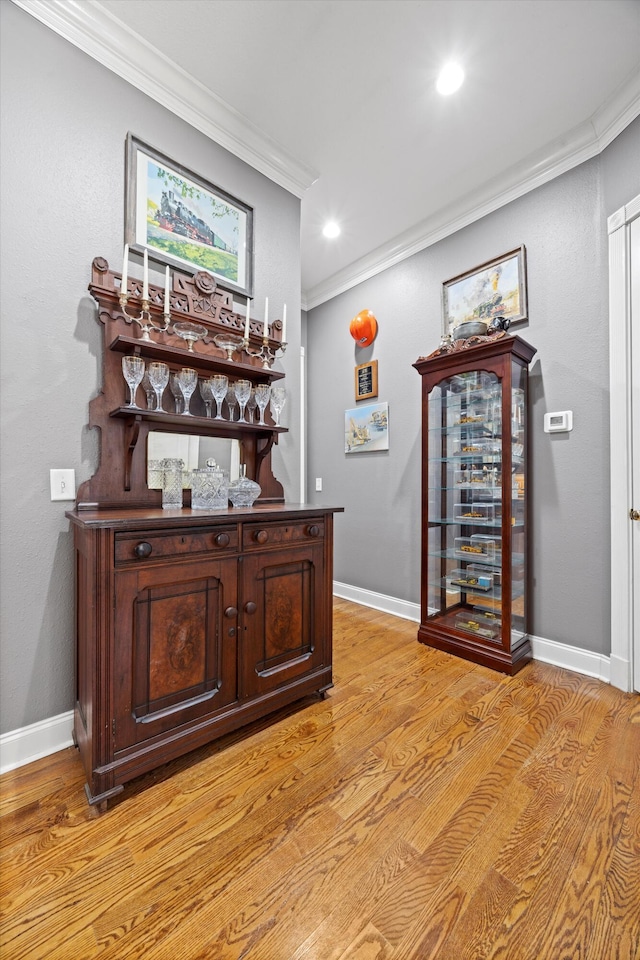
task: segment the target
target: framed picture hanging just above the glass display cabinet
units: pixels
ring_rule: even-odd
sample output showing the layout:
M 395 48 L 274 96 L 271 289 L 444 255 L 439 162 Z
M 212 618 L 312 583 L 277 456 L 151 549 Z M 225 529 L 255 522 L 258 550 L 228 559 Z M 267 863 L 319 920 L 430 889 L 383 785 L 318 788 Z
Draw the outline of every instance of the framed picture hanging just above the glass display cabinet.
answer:
M 524 246 L 479 267 L 452 277 L 442 285 L 443 333 L 461 323 L 505 317 L 522 323 L 527 315 L 527 271 Z

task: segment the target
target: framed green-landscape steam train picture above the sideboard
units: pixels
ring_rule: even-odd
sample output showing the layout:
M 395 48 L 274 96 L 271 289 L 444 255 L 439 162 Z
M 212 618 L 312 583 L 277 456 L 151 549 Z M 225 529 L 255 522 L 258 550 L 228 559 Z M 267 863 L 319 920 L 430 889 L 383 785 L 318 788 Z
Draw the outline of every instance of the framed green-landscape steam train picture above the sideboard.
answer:
M 253 295 L 253 210 L 128 134 L 125 243 Z

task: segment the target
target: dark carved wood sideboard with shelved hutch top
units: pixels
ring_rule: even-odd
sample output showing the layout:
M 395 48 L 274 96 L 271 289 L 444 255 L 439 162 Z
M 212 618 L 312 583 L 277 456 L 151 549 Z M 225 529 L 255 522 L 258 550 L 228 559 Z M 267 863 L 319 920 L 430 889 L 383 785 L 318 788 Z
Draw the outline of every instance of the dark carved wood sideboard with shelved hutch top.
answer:
M 215 421 L 197 406 L 192 417 L 126 406 L 124 353 L 203 376 L 271 382 L 282 374 L 246 354 L 229 360 L 215 346 L 216 333 L 241 333 L 244 317 L 209 275 L 173 275 L 172 318 L 210 331 L 194 352 L 170 332 L 154 342 L 136 336 L 119 306 L 119 279 L 94 260 L 89 289 L 104 350 L 90 425 L 101 430 L 101 462 L 67 513 L 76 554 L 74 737 L 87 798 L 102 807 L 135 777 L 331 687 L 333 515 L 342 510 L 284 502 L 271 472 L 284 427 Z M 162 290 L 152 286 L 150 296 L 160 313 Z M 250 339 L 261 342 L 251 326 Z M 276 321 L 270 336 L 278 329 Z M 161 492 L 146 484 L 150 430 L 237 439 L 261 497 L 248 508 L 195 510 L 187 490 L 184 509 L 163 510 Z

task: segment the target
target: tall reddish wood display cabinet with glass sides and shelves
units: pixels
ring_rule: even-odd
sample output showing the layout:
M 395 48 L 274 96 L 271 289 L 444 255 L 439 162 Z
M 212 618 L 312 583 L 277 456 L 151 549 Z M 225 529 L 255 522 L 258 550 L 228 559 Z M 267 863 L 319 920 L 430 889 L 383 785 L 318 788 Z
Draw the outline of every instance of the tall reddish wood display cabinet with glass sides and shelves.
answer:
M 458 341 L 422 376 L 418 639 L 513 674 L 531 659 L 527 377 L 535 349 L 502 334 Z

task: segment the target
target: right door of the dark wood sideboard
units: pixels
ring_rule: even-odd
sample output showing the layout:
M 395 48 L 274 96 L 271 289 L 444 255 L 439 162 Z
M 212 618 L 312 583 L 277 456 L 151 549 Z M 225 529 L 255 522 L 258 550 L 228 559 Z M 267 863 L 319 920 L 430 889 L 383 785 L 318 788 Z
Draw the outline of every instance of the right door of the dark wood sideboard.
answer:
M 323 544 L 248 555 L 242 576 L 243 697 L 328 663 Z

